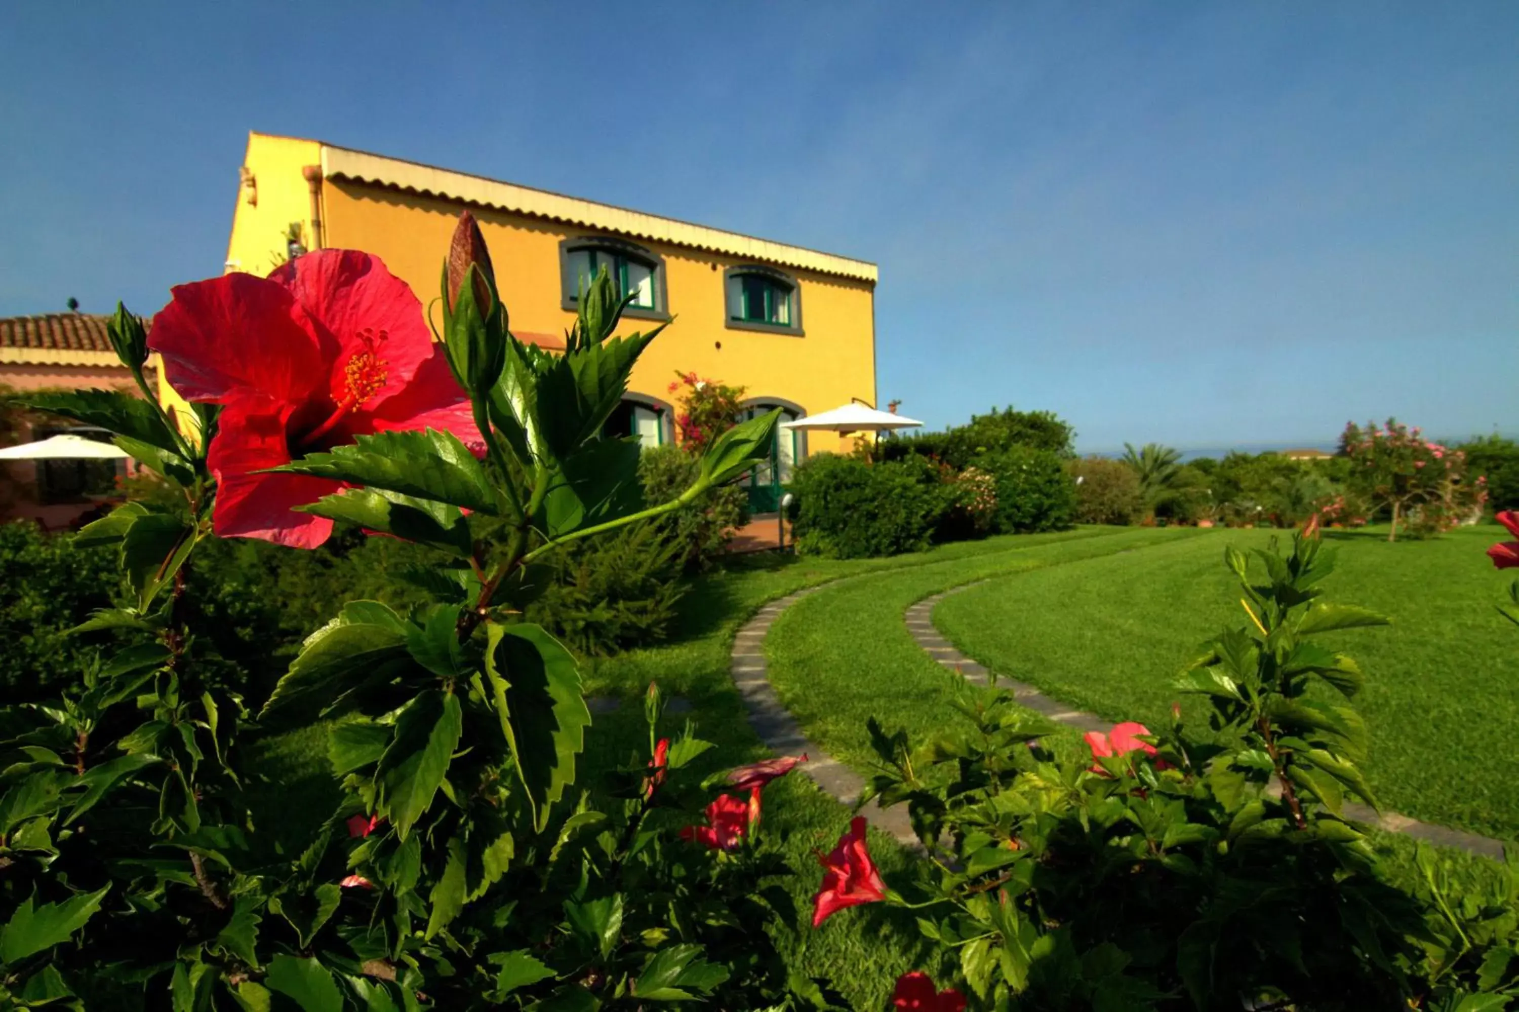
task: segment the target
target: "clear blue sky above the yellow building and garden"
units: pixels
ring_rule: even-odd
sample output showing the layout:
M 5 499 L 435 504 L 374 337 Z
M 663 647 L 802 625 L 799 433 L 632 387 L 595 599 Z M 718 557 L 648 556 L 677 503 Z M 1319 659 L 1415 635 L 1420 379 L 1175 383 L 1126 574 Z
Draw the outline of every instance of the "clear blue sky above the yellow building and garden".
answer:
M 257 129 L 876 261 L 881 400 L 934 427 L 1519 429 L 1511 0 L 14 0 L 0 38 L 0 315 L 219 274 Z

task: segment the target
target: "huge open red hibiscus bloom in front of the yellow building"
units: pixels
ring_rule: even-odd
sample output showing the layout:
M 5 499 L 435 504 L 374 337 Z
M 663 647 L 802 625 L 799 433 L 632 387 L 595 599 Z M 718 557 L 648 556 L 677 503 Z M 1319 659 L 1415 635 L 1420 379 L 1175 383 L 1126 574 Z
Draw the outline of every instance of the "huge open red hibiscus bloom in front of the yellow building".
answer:
M 365 252 L 321 249 L 267 278 L 181 284 L 150 333 L 169 384 L 223 406 L 207 459 L 223 538 L 314 549 L 333 530 L 331 520 L 292 508 L 336 492 L 337 482 L 255 471 L 389 429 L 480 441 L 421 302 Z

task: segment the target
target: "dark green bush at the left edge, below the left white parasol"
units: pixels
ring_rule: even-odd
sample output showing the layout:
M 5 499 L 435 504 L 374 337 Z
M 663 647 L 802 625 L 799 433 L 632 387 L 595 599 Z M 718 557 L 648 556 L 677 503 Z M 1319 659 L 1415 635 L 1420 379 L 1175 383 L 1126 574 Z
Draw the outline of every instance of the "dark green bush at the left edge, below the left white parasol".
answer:
M 100 658 L 108 634 L 68 635 L 120 582 L 115 555 L 74 547 L 36 524 L 0 524 L 0 693 L 6 702 L 50 697 Z

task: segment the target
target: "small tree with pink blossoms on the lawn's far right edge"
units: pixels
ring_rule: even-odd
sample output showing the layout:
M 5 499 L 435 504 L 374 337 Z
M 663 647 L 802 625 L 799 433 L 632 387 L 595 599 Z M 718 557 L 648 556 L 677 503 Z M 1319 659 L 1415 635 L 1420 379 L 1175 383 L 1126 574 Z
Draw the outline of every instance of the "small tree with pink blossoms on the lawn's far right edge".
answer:
M 1352 485 L 1372 509 L 1391 514 L 1387 539 L 1397 538 L 1399 524 L 1416 521 L 1425 533 L 1438 533 L 1480 509 L 1486 500 L 1481 483 L 1466 482 L 1466 454 L 1423 439 L 1394 418 L 1379 429 L 1367 422 L 1344 427 L 1340 450 L 1350 457 Z

